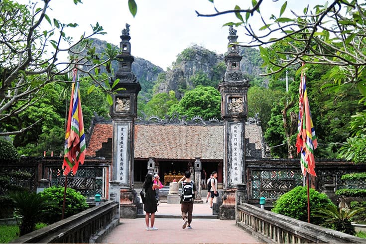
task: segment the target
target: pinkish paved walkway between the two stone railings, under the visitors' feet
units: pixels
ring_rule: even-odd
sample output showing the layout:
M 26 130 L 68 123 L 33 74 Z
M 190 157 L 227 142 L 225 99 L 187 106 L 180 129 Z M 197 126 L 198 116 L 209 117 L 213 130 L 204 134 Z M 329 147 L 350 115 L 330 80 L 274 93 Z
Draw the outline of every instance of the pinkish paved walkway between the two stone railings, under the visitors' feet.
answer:
M 212 215 L 208 203 L 193 207 L 192 229 L 182 229 L 183 220 L 178 218 L 155 218 L 157 231 L 145 230 L 145 219 L 121 219 L 102 243 L 155 243 L 155 244 L 258 244 L 258 240 L 235 225 L 235 221 L 196 218 L 196 215 Z M 180 215 L 180 204 L 160 203 L 156 215 Z

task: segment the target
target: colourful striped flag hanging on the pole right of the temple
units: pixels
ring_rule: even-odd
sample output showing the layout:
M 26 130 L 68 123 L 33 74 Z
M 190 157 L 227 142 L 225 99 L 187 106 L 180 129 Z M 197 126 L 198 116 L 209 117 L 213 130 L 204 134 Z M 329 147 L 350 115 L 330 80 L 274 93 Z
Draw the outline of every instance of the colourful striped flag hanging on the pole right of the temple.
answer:
M 296 138 L 297 153 L 300 152 L 300 164 L 303 175 L 305 176 L 306 172 L 308 172 L 309 174 L 316 176 L 314 150 L 317 148 L 318 142 L 313 121 L 311 120 L 304 70 L 301 71 L 299 94 L 299 120 Z

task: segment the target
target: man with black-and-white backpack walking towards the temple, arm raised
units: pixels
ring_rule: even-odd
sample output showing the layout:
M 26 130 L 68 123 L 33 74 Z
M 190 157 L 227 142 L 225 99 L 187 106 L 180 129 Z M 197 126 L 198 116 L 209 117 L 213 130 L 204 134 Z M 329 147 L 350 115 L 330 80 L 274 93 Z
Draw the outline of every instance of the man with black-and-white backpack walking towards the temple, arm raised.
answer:
M 182 219 L 184 221 L 182 228 L 185 229 L 188 224 L 188 229 L 192 229 L 191 222 L 192 222 L 193 200 L 197 188 L 193 180 L 191 180 L 191 172 L 188 170 L 184 173 L 184 176 L 178 181 L 178 183 L 180 182 L 182 182 L 181 211 L 182 211 Z

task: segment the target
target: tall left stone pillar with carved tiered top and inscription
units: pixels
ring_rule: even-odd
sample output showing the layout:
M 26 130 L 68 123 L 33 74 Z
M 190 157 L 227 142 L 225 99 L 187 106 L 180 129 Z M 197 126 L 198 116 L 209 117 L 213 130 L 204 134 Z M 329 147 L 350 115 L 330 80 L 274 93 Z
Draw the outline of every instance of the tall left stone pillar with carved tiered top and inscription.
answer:
M 111 198 L 120 203 L 121 218 L 136 218 L 138 202 L 133 190 L 133 158 L 134 158 L 134 121 L 137 114 L 137 94 L 141 86 L 131 71 L 134 60 L 131 56 L 129 25 L 122 30 L 120 54 L 117 55 L 119 69 L 111 80 L 113 105 L 111 117 L 113 121 L 112 138 L 112 170 L 110 192 Z M 116 81 L 119 80 L 116 84 Z

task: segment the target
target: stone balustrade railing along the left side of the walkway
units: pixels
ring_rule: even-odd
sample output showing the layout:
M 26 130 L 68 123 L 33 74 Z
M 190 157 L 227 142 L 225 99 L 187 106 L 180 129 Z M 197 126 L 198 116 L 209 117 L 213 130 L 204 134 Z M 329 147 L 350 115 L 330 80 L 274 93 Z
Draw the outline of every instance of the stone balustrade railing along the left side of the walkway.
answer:
M 119 224 L 118 207 L 114 201 L 102 203 L 11 243 L 101 243 L 104 236 Z

